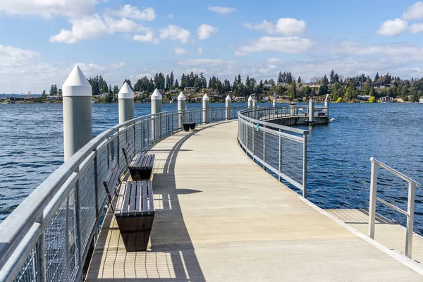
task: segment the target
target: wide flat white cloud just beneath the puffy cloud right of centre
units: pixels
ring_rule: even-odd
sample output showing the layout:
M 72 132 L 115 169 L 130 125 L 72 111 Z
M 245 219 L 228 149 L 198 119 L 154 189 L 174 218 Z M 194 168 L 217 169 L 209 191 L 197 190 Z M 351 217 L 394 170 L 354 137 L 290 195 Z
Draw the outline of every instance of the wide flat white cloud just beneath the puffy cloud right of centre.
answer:
M 245 56 L 250 53 L 261 51 L 278 51 L 288 54 L 300 54 L 309 50 L 312 45 L 312 40 L 308 38 L 264 36 L 252 41 L 249 45 L 240 47 L 235 51 L 235 56 Z

